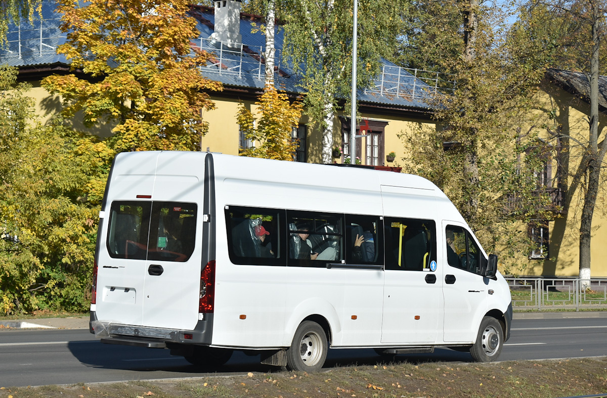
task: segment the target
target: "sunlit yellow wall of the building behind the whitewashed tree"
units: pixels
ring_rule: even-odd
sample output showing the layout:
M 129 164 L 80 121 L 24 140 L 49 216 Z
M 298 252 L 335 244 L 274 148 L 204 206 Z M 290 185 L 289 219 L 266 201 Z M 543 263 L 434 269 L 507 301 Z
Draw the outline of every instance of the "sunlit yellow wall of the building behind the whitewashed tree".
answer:
M 607 89 L 607 77 L 599 80 Z M 605 140 L 607 101 L 599 95 L 599 148 Z M 538 185 L 551 195 L 557 218 L 529 226 L 530 236 L 544 247 L 530 255 L 529 275 L 575 276 L 579 272 L 580 217 L 587 176 L 580 172 L 589 140 L 589 84 L 583 73 L 549 69 L 534 95 L 531 125 L 546 143 L 544 169 Z M 592 219 L 591 276 L 607 277 L 607 214 L 605 184 Z

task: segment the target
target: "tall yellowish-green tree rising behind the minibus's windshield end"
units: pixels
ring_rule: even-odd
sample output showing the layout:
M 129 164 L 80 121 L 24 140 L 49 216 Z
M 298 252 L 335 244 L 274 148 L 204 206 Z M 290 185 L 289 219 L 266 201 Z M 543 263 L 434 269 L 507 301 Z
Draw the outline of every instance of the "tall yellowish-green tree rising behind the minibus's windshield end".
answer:
M 527 123 L 543 67 L 518 58 L 524 43 L 506 34 L 497 5 L 415 5 L 401 36 L 410 44 L 401 62 L 445 70 L 453 86 L 428 100 L 436 130 L 403 136 L 405 168 L 438 184 L 483 246 L 500 252 L 505 269 L 517 271 L 532 248 L 521 224 L 552 218 L 534 178 L 540 164 L 531 156 L 546 149 Z

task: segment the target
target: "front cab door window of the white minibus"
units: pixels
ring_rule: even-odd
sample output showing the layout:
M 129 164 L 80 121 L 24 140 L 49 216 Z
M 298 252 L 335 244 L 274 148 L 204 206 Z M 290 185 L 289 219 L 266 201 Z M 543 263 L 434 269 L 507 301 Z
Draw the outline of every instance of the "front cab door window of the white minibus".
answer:
M 483 275 L 486 268 L 481 249 L 466 229 L 449 225 L 445 230 L 447 263 L 473 274 Z

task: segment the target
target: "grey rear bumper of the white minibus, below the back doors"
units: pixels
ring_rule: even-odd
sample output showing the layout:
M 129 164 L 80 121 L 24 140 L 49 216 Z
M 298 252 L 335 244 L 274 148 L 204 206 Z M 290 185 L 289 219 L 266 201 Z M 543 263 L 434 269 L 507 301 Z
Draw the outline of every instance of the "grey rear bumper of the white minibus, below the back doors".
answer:
M 199 320 L 193 330 L 125 325 L 98 320 L 95 312 L 91 311 L 89 330 L 102 343 L 165 348 L 167 343 L 211 345 L 212 324 L 213 314 L 205 314 L 205 320 Z

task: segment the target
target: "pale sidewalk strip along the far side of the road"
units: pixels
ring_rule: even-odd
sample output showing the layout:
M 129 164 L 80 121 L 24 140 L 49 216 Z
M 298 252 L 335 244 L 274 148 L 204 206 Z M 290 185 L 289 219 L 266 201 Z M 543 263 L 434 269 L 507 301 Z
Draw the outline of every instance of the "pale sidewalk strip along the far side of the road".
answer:
M 607 311 L 515 312 L 513 319 L 607 318 Z M 0 321 L 0 329 L 88 329 L 89 317 Z

